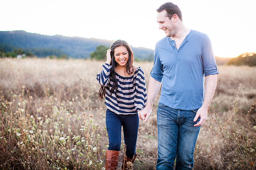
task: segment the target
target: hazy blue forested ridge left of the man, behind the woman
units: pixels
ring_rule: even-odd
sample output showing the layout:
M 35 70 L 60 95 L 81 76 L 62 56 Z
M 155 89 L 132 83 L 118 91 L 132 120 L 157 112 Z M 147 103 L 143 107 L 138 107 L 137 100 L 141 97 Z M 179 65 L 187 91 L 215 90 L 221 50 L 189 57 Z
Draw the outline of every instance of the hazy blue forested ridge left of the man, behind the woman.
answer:
M 97 46 L 109 47 L 113 42 L 114 40 L 65 37 L 62 35 L 49 36 L 26 31 L 0 31 L 0 49 L 5 52 L 12 52 L 14 49 L 21 48 L 25 53 L 32 52 L 38 57 L 66 54 L 71 58 L 89 58 Z M 143 47 L 132 47 L 132 49 L 135 58 L 152 61 L 154 50 Z

